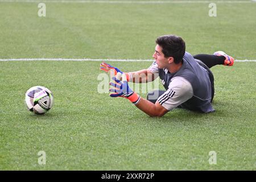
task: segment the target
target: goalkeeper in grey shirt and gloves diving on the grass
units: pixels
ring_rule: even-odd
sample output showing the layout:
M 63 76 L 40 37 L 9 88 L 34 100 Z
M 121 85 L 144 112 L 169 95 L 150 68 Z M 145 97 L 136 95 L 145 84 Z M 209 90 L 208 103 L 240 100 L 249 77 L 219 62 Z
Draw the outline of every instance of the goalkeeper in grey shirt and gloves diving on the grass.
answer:
M 125 73 L 107 63 L 100 69 L 113 72 L 110 97 L 124 97 L 151 117 L 162 117 L 176 107 L 211 113 L 214 111 L 214 77 L 209 68 L 214 65 L 234 64 L 233 57 L 223 51 L 213 55 L 192 56 L 185 51 L 185 42 L 176 35 L 164 35 L 156 39 L 155 60 L 147 69 Z M 129 82 L 151 82 L 157 77 L 166 90 L 154 90 L 144 99 L 129 87 Z

